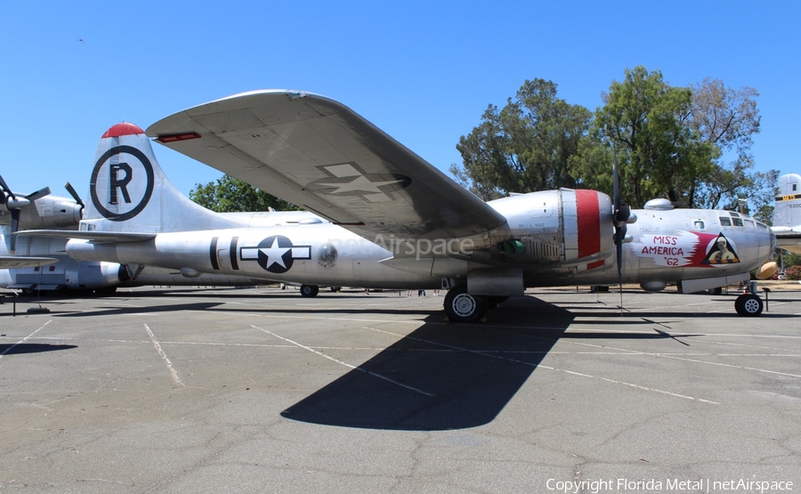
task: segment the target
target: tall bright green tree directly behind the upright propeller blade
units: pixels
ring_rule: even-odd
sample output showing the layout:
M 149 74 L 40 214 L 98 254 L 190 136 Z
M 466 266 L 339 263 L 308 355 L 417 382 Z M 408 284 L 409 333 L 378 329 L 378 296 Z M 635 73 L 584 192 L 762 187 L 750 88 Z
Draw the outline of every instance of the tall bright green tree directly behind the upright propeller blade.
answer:
M 692 92 L 671 87 L 657 70 L 627 69 L 595 110 L 574 173 L 582 185 L 604 191 L 611 182 L 611 146 L 617 151 L 620 195 L 632 207 L 667 197 L 692 206 L 697 177 L 714 169 L 716 147 L 689 126 Z M 604 186 L 601 188 L 600 186 Z

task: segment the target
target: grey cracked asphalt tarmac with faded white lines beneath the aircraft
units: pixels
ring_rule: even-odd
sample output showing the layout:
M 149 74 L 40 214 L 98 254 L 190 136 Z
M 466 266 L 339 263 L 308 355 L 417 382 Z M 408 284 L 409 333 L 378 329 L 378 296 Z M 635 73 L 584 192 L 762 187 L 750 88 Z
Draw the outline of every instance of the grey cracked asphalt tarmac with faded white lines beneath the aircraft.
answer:
M 6 300 L 0 491 L 801 491 L 801 291 L 413 295 Z

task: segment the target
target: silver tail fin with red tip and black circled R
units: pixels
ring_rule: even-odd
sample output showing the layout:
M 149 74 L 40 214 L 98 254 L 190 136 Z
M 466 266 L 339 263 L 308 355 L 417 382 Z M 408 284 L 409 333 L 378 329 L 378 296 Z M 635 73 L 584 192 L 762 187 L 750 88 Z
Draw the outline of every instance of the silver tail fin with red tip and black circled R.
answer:
M 101 137 L 81 230 L 160 233 L 242 226 L 184 197 L 158 166 L 150 140 L 134 124 Z

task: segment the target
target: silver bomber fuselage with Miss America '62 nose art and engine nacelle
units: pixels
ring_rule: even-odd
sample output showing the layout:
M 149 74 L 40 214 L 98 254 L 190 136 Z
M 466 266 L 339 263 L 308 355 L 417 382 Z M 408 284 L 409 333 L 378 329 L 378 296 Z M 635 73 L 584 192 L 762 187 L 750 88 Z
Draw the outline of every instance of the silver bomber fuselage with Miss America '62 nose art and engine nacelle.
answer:
M 577 220 L 574 193 L 547 190 L 492 201 L 507 224 L 477 238 L 363 239 L 333 223 L 312 223 L 167 232 L 142 242 L 72 239 L 67 251 L 81 260 L 320 286 L 434 288 L 443 278 L 466 279 L 470 271 L 488 266 L 522 269 L 526 287 L 615 284 L 609 198 L 593 192 L 601 200 L 597 225 L 588 232 Z M 627 225 L 623 244 L 624 282 L 669 283 L 742 273 L 763 263 L 775 242 L 765 224 L 737 213 L 634 213 L 637 220 Z M 503 239 L 510 238 L 519 242 L 521 252 L 503 249 Z

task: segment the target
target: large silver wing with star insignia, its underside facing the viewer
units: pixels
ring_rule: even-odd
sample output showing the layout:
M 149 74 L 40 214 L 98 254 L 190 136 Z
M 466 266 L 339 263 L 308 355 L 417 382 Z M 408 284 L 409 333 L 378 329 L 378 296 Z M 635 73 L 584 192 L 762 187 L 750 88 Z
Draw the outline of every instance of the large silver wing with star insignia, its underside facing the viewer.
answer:
M 159 120 L 150 137 L 368 239 L 449 239 L 506 223 L 342 103 L 241 93 Z

